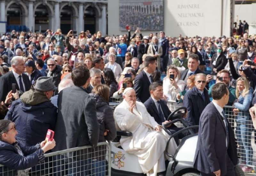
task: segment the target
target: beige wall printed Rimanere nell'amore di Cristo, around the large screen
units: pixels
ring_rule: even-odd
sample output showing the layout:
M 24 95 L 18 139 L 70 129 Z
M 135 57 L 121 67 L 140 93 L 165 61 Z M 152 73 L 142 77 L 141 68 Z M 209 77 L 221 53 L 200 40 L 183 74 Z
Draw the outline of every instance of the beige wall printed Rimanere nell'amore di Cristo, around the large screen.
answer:
M 221 0 L 164 0 L 164 32 L 168 36 L 178 36 L 179 34 L 187 36 L 229 36 L 230 17 L 228 17 L 230 0 L 224 0 L 226 5 L 223 6 L 223 18 L 225 24 L 221 28 Z M 181 4 L 197 4 L 190 9 L 178 9 Z M 181 6 L 179 6 L 181 7 Z M 181 14 L 182 13 L 182 14 Z M 200 13 L 202 17 L 184 17 L 185 14 Z M 180 15 L 183 17 L 180 17 Z M 189 26 L 180 26 L 178 24 L 190 24 Z M 222 32 L 223 31 L 223 32 Z M 143 35 L 150 32 L 143 31 Z M 127 31 L 119 30 L 119 0 L 108 0 L 108 34 L 124 34 Z

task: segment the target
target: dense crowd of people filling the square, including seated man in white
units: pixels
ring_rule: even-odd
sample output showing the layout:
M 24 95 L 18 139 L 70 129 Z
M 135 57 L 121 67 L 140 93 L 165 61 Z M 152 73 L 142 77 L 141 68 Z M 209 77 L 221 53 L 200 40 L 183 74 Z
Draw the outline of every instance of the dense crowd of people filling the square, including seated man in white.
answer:
M 224 83 L 227 105 L 235 107 L 229 120 L 236 122 L 239 157 L 247 165 L 242 170 L 251 172 L 255 49 L 256 36 L 246 32 L 219 38 L 168 37 L 163 31 L 143 36 L 138 28 L 104 37 L 60 29 L 6 33 L 0 40 L 0 164 L 27 173 L 46 151 L 96 147 L 115 139 L 116 130 L 127 130 L 133 137 L 121 137 L 123 149 L 138 156 L 147 175 L 161 174 L 168 139 L 162 125 L 176 109 L 169 102 L 182 103 L 186 122 L 200 125 L 205 107 L 216 100 L 215 85 Z M 113 98 L 122 101 L 114 112 Z M 46 142 L 48 129 L 55 140 Z M 180 129 L 168 127 L 172 134 Z M 170 142 L 170 153 L 186 135 Z M 88 162 L 104 171 L 101 160 Z

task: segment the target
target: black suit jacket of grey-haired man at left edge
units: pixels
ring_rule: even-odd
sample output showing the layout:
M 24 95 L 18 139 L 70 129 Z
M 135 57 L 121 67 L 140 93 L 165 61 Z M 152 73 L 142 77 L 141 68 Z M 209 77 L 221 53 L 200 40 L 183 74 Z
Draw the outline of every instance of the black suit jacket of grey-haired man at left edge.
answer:
M 25 91 L 28 91 L 31 87 L 31 83 L 29 81 L 29 78 L 26 74 L 22 74 L 22 79 L 25 85 Z M 19 85 L 12 73 L 12 71 L 4 74 L 3 76 L 0 77 L 0 101 L 5 101 L 5 98 L 12 90 L 12 83 L 16 84 L 16 89 L 20 90 Z

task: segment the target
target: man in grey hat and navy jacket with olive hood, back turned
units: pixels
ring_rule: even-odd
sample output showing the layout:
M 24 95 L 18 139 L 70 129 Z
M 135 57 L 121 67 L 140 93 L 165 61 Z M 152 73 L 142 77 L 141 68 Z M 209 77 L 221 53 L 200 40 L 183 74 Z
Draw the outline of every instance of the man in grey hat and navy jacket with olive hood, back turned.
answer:
M 17 140 L 32 146 L 44 141 L 47 130 L 54 130 L 57 108 L 50 102 L 56 87 L 52 78 L 42 76 L 36 80 L 34 86 L 12 102 L 5 119 L 15 123 Z

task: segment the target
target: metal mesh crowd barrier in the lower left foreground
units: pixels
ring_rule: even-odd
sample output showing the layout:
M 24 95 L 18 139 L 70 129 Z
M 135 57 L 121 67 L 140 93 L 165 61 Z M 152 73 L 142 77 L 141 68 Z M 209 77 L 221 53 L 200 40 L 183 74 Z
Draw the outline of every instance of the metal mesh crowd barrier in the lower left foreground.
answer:
M 110 176 L 110 145 L 82 146 L 44 154 L 44 162 L 24 171 L 0 165 L 0 176 Z

